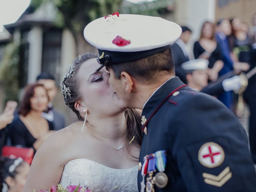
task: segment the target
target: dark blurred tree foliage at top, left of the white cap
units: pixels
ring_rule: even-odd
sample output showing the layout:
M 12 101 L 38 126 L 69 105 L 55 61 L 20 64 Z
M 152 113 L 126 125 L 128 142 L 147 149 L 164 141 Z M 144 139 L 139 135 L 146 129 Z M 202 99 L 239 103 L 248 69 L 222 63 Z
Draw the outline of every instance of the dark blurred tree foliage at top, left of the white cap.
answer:
M 56 17 L 58 26 L 70 29 L 75 39 L 77 34 L 83 32 L 86 24 L 118 11 L 122 3 L 122 0 L 32 0 L 31 6 L 37 8 L 47 1 L 59 10 Z

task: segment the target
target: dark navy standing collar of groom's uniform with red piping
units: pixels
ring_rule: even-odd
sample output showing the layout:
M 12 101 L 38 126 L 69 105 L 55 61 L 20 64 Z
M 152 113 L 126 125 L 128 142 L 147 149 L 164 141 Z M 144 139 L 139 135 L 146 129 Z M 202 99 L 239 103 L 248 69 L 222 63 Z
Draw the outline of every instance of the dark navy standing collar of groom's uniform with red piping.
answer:
M 185 84 L 178 77 L 170 78 L 164 84 L 162 84 L 153 94 L 143 107 L 142 116 L 149 118 L 154 110 L 162 103 L 162 101 L 175 89 Z

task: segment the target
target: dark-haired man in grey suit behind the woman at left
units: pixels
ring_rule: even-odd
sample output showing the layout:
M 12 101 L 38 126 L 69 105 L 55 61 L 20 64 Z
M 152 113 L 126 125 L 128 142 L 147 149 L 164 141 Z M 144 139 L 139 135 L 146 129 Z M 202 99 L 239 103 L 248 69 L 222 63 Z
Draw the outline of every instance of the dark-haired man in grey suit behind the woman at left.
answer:
M 64 128 L 66 126 L 64 116 L 57 112 L 52 105 L 54 97 L 57 94 L 57 87 L 54 77 L 44 72 L 36 78 L 36 82 L 44 85 L 44 87 L 47 90 L 50 101 L 48 103 L 48 109 L 46 110 L 46 112 L 42 114 L 42 116 L 46 118 L 48 121 L 53 122 L 54 130 L 60 130 Z

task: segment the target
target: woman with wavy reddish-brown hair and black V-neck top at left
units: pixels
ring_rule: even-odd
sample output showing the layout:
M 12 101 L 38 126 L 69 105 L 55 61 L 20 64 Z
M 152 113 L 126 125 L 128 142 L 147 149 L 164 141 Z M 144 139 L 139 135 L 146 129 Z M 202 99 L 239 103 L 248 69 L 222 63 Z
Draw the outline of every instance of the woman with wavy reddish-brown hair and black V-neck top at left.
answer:
M 49 98 L 42 84 L 26 87 L 22 102 L 18 108 L 19 117 L 10 124 L 10 138 L 13 145 L 39 146 L 54 132 L 53 123 L 42 117 Z

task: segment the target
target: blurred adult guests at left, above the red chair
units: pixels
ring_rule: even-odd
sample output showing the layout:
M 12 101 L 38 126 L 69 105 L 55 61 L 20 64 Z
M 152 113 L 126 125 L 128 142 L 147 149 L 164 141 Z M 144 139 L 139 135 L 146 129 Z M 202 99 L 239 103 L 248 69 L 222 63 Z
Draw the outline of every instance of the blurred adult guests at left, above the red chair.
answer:
M 26 86 L 18 109 L 15 102 L 8 102 L 0 117 L 2 146 L 7 143 L 33 148 L 36 152 L 53 132 L 64 128 L 65 118 L 52 104 L 56 94 L 53 76 L 42 73 L 34 84 Z

